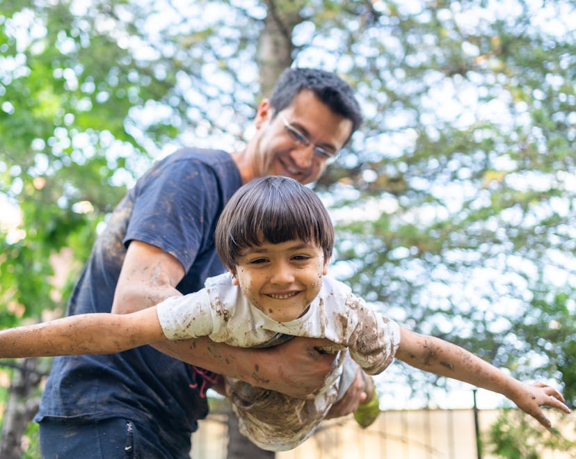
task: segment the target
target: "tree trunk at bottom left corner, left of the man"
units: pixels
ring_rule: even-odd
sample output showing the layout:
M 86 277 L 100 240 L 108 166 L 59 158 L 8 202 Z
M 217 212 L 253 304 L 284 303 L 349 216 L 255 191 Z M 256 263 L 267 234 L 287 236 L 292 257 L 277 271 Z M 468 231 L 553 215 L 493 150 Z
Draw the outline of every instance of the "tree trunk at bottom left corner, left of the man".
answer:
M 38 359 L 22 359 L 14 372 L 8 389 L 4 424 L 0 440 L 0 458 L 22 458 L 21 440 L 26 426 L 38 411 L 40 397 L 31 397 L 42 379 L 37 369 Z

